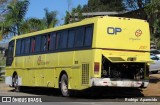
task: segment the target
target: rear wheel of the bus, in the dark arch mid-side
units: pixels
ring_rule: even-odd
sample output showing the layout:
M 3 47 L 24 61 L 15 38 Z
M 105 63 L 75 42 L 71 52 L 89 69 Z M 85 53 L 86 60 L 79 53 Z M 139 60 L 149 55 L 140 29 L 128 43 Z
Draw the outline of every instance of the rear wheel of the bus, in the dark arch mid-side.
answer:
M 68 77 L 66 74 L 63 74 L 61 76 L 61 82 L 60 82 L 60 89 L 61 93 L 64 97 L 69 96 L 69 90 L 68 90 Z

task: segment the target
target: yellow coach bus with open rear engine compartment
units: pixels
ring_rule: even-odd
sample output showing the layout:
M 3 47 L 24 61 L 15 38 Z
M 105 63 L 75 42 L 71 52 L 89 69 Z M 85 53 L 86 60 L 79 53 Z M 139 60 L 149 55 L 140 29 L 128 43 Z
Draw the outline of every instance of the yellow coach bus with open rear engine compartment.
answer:
M 150 32 L 145 20 L 100 16 L 15 36 L 9 42 L 6 84 L 70 90 L 145 88 Z

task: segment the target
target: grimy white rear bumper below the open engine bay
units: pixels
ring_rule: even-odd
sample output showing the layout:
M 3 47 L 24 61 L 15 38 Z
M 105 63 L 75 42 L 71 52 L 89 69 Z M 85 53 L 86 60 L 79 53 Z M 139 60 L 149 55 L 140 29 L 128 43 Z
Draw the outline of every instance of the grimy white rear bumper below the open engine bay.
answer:
M 129 79 L 111 79 L 111 78 L 91 78 L 91 86 L 109 86 L 109 87 L 141 87 L 146 88 L 148 80 L 129 80 Z

